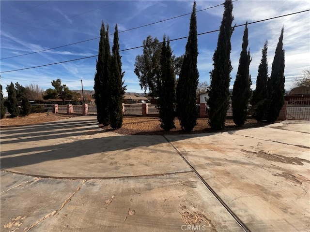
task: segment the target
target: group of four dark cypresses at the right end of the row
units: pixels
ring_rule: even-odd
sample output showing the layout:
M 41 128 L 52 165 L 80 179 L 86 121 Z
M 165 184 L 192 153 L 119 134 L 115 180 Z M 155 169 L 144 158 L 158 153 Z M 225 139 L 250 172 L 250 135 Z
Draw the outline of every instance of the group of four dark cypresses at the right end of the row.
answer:
M 209 91 L 209 125 L 212 129 L 221 130 L 225 126 L 226 113 L 229 108 L 229 84 L 232 65 L 230 60 L 231 36 L 234 30 L 233 3 L 224 2 L 224 14 L 220 26 L 217 49 L 213 56 L 214 69 L 210 72 L 211 86 Z M 248 22 L 246 23 L 239 66 L 233 84 L 232 108 L 233 121 L 237 126 L 245 124 L 248 115 L 248 102 L 252 104 L 252 114 L 258 120 L 274 122 L 284 104 L 284 50 L 283 31 L 279 37 L 275 57 L 272 63 L 271 75 L 268 77 L 267 42 L 263 47 L 263 57 L 258 69 L 256 89 L 251 98 L 251 76 L 249 64 L 251 62 L 248 48 Z M 251 100 L 250 100 L 251 98 Z

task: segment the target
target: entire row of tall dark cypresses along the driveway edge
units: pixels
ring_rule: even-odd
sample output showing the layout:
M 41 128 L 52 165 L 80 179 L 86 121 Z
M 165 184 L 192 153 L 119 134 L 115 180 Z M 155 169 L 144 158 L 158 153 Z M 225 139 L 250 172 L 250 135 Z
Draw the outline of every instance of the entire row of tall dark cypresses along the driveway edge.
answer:
M 231 0 L 224 2 L 224 14 L 221 22 L 217 49 L 213 55 L 213 70 L 210 72 L 211 85 L 209 90 L 209 125 L 212 129 L 222 130 L 225 126 L 226 113 L 229 108 L 229 86 L 233 69 L 230 60 L 231 36 L 234 27 L 233 3 Z M 269 122 L 277 120 L 279 111 L 284 103 L 284 50 L 283 28 L 279 37 L 279 43 L 272 64 L 270 77 L 267 76 L 267 42 L 263 48 L 263 58 L 259 66 L 256 90 L 251 99 L 253 116 L 261 121 Z M 119 55 L 119 43 L 117 25 L 115 27 L 112 56 L 109 50 L 109 26 L 105 30 L 102 23 L 100 29 L 99 53 L 95 74 L 95 102 L 97 105 L 97 119 L 103 126 L 111 125 L 112 128 L 122 126 L 122 97 L 124 87 L 121 70 L 121 57 Z M 197 69 L 198 43 L 197 43 L 197 19 L 196 2 L 190 18 L 189 35 L 186 43 L 184 61 L 181 67 L 179 81 L 174 93 L 175 77 L 171 67 L 171 48 L 166 36 L 164 36 L 161 58 L 160 75 L 157 77 L 159 91 L 158 108 L 161 127 L 165 131 L 175 128 L 173 105 L 177 103 L 177 113 L 182 130 L 191 131 L 197 124 L 196 89 L 199 81 Z M 246 23 L 243 35 L 242 51 L 240 53 L 239 66 L 233 85 L 232 107 L 233 121 L 237 126 L 244 125 L 248 115 L 248 102 L 251 97 L 251 77 L 249 64 L 251 62 L 248 50 L 248 23 Z M 176 96 L 176 99 L 174 99 Z

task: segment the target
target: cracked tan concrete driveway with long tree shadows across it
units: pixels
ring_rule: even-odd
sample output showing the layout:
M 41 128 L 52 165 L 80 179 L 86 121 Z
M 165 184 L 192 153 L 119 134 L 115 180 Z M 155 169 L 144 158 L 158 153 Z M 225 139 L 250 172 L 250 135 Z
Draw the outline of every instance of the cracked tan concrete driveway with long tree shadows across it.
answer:
M 310 231 L 310 121 L 140 136 L 1 130 L 0 231 Z

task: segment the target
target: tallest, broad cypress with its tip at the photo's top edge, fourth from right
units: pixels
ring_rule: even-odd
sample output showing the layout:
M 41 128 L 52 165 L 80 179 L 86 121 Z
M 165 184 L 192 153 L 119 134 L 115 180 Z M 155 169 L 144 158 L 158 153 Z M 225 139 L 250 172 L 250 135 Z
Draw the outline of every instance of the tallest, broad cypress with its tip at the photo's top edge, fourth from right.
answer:
M 229 107 L 230 73 L 233 69 L 230 60 L 232 49 L 231 36 L 233 34 L 233 3 L 224 2 L 224 14 L 219 29 L 217 49 L 213 55 L 213 70 L 210 72 L 209 91 L 209 125 L 212 129 L 221 130 L 225 126 L 226 113 Z

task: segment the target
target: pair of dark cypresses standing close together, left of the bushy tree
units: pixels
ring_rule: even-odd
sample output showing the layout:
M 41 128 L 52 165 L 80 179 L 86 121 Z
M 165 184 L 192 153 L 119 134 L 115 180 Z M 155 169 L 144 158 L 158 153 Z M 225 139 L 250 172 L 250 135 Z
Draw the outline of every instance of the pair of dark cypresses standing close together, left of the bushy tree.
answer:
M 123 124 L 122 103 L 125 87 L 122 81 L 122 62 L 117 24 L 115 26 L 112 55 L 109 46 L 109 25 L 101 23 L 98 59 L 94 76 L 94 98 L 97 106 L 97 121 L 103 126 L 121 128 Z

